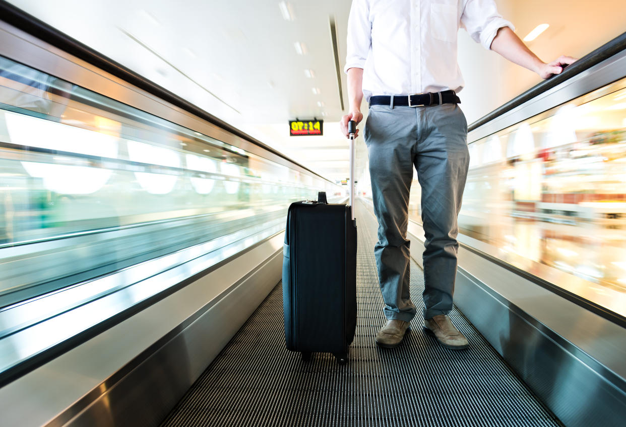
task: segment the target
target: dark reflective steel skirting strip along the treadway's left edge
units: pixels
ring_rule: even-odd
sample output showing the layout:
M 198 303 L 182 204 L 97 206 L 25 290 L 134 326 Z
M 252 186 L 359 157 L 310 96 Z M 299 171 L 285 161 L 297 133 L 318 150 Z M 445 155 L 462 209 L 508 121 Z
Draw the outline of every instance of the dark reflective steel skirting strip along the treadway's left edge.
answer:
M 156 426 L 276 285 L 282 252 L 93 401 L 66 426 Z M 280 278 L 278 278 L 280 280 Z

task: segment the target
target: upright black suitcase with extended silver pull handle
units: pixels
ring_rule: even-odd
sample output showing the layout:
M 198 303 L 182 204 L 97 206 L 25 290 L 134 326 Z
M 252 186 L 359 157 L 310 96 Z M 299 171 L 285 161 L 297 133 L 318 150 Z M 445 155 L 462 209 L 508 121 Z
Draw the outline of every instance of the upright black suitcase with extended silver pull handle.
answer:
M 354 130 L 354 129 L 353 129 Z M 352 136 L 352 135 L 351 135 Z M 354 138 L 351 137 L 351 205 L 292 203 L 283 249 L 282 292 L 287 349 L 304 360 L 332 353 L 346 363 L 356 329 L 356 220 Z

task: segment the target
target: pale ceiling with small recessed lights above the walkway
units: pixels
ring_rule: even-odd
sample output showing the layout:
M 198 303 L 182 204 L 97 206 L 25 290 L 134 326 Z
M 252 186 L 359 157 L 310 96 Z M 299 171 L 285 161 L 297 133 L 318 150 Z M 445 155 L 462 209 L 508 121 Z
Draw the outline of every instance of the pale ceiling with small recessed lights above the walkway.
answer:
M 343 67 L 350 0 L 289 0 L 292 21 L 284 19 L 279 0 L 10 2 L 322 176 L 347 177 L 347 140 L 337 123 L 345 111 L 329 21 L 336 21 Z M 582 56 L 623 31 L 623 13 L 615 13 L 623 11 L 623 0 L 597 2 L 592 10 L 582 0 L 496 2 L 521 37 L 537 24 L 550 24 L 530 44 L 548 61 L 562 53 Z M 585 22 L 585 32 L 573 22 Z M 304 44 L 304 54 L 295 42 Z M 473 43 L 464 31 L 459 64 L 466 77 L 461 105 L 469 122 L 539 81 Z M 307 69 L 313 77 L 305 75 Z M 345 74 L 341 79 L 347 109 Z M 313 117 L 325 120 L 323 136 L 289 137 L 289 119 Z M 357 177 L 367 164 L 359 140 Z

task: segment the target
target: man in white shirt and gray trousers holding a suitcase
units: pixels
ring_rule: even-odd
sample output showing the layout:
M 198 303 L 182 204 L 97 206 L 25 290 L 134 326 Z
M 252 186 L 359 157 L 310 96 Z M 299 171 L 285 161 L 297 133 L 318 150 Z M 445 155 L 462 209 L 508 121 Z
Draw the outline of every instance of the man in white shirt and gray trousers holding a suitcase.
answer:
M 422 187 L 426 237 L 424 329 L 453 350 L 468 346 L 451 323 L 457 217 L 469 165 L 467 122 L 457 106 L 463 78 L 456 61 L 459 27 L 486 49 L 535 71 L 543 79 L 575 61 L 538 59 L 503 19 L 494 0 L 353 0 L 348 20 L 346 72 L 350 112 L 364 129 L 374 212 L 376 265 L 387 323 L 376 343 L 391 348 L 404 338 L 416 307 L 409 295 L 409 190 L 413 167 Z M 490 88 L 486 88 L 489 90 Z M 409 94 L 416 94 L 411 95 Z

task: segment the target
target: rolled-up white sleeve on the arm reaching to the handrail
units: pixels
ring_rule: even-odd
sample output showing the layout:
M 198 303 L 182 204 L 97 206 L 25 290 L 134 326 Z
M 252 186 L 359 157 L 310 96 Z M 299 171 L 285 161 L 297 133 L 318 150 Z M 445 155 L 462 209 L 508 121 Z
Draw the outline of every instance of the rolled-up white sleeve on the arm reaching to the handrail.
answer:
M 498 29 L 509 27 L 515 31 L 513 24 L 498 13 L 494 0 L 468 0 L 461 14 L 461 24 L 474 41 L 488 50 Z

